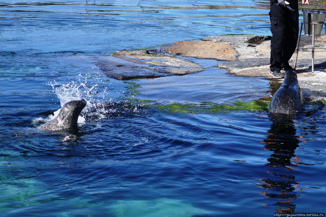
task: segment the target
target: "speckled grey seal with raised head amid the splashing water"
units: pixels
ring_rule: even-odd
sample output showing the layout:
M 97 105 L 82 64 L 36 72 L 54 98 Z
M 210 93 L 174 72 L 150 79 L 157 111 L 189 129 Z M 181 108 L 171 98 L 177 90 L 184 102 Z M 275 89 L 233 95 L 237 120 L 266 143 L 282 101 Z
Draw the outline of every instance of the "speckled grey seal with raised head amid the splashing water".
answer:
M 78 116 L 86 105 L 86 100 L 73 100 L 61 108 L 58 116 L 43 124 L 40 129 L 48 131 L 67 130 L 77 126 Z

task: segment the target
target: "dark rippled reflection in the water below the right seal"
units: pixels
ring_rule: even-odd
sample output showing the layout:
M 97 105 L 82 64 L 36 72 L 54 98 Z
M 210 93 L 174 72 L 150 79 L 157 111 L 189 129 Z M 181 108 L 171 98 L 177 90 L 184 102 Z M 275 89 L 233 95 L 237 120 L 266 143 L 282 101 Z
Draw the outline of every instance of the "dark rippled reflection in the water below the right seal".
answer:
M 295 155 L 300 141 L 293 120 L 272 118 L 272 122 L 268 136 L 263 140 L 265 150 L 273 152 L 265 164 L 271 169 L 267 171 L 267 178 L 261 179 L 259 186 L 268 190 L 261 194 L 273 198 L 275 202 L 272 205 L 278 207 L 277 212 L 291 213 L 295 211 L 295 198 L 300 196 L 297 194 L 299 182 L 291 175 L 291 170 L 297 166 L 292 161 L 300 161 Z

